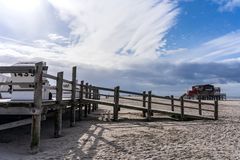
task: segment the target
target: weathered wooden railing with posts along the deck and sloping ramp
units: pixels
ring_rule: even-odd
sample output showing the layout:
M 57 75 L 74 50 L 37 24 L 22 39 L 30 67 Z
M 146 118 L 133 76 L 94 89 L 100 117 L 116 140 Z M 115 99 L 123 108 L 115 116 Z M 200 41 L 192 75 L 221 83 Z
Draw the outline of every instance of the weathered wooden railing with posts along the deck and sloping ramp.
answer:
M 32 85 L 34 87 L 34 98 L 32 100 L 32 112 L 26 112 L 32 115 L 31 127 L 31 150 L 37 152 L 39 150 L 40 142 L 40 129 L 41 129 L 41 115 L 44 113 L 44 106 L 52 105 L 55 109 L 55 123 L 54 123 L 54 137 L 59 137 L 62 131 L 62 113 L 66 105 L 70 106 L 70 126 L 75 125 L 76 111 L 78 111 L 78 120 L 87 117 L 89 113 L 95 111 L 99 104 L 108 105 L 113 107 L 113 120 L 118 120 L 118 113 L 121 108 L 128 108 L 142 111 L 142 114 L 148 121 L 153 117 L 154 113 L 166 113 L 170 115 L 180 115 L 180 119 L 184 120 L 186 110 L 197 111 L 199 116 L 204 116 L 204 113 L 213 113 L 213 118 L 218 119 L 218 101 L 214 103 L 203 102 L 201 100 L 192 101 L 185 100 L 183 97 L 175 98 L 174 96 L 164 97 L 152 94 L 152 91 L 132 92 L 120 89 L 119 86 L 113 88 L 106 88 L 94 86 L 89 83 L 81 81 L 77 83 L 77 68 L 72 69 L 72 79 L 64 79 L 64 73 L 58 72 L 57 75 L 43 73 L 47 67 L 43 63 L 37 63 L 34 66 L 12 66 L 0 67 L 0 73 L 31 73 L 34 74 L 34 82 L 1 82 L 0 85 Z M 56 81 L 55 86 L 49 86 L 51 90 L 56 90 L 54 100 L 43 100 L 43 78 L 48 78 Z M 71 89 L 63 87 L 63 83 L 71 84 Z M 71 98 L 64 98 L 64 91 L 71 92 Z M 109 94 L 106 94 L 108 92 Z M 79 96 L 77 96 L 77 93 Z M 131 96 L 127 96 L 131 95 Z M 106 98 L 103 98 L 106 97 Z M 109 100 L 111 98 L 111 101 Z M 138 105 L 126 104 L 122 100 L 130 101 L 128 103 L 136 102 Z M 188 104 L 188 105 L 186 105 Z M 193 105 L 197 105 L 194 107 Z M 162 110 L 163 106 L 168 107 L 167 110 Z M 204 108 L 210 106 L 210 108 Z M 84 113 L 83 113 L 84 108 Z M 40 112 L 34 112 L 39 110 Z M 178 113 L 179 111 L 179 113 Z M 4 113 L 3 113 L 4 114 Z M 7 114 L 7 112 L 6 112 Z

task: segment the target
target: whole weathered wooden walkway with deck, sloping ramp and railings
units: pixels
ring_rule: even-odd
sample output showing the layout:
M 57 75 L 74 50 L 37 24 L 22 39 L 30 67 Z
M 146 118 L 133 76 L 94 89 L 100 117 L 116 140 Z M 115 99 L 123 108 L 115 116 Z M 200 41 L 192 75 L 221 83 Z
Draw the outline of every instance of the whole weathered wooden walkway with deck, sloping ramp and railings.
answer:
M 63 72 L 56 76 L 43 73 L 42 63 L 35 67 L 0 67 L 0 73 L 32 73 L 34 74 L 34 99 L 30 101 L 0 100 L 0 115 L 29 115 L 31 119 L 3 124 L 1 129 L 8 129 L 31 123 L 30 148 L 33 153 L 38 152 L 40 145 L 41 121 L 45 120 L 48 113 L 54 113 L 54 137 L 60 137 L 62 132 L 62 114 L 64 110 L 70 110 L 70 126 L 74 127 L 76 120 L 87 117 L 88 114 L 98 109 L 99 105 L 110 106 L 113 109 L 113 120 L 118 121 L 121 108 L 141 111 L 147 121 L 154 119 L 155 114 L 169 115 L 179 120 L 185 119 L 218 119 L 218 101 L 213 103 L 201 100 L 185 100 L 183 97 L 163 97 L 152 94 L 151 91 L 142 93 L 120 90 L 120 87 L 105 88 L 93 86 L 81 81 L 77 84 L 77 68 L 72 69 L 72 79 L 63 78 Z M 53 100 L 43 100 L 43 78 L 56 81 L 56 96 Z M 71 84 L 71 89 L 64 89 L 63 83 Z M 0 83 L 0 85 L 20 85 L 18 83 Z M 71 93 L 71 98 L 64 98 L 64 91 Z M 77 97 L 77 94 L 79 95 Z M 68 106 L 68 107 L 67 107 Z M 78 114 L 76 114 L 78 112 Z M 78 115 L 78 117 L 76 117 Z

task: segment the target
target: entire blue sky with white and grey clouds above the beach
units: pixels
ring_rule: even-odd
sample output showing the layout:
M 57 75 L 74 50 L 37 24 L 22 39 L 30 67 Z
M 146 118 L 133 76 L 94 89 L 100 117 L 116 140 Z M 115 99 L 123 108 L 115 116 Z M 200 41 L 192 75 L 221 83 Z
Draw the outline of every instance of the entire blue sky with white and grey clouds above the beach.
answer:
M 0 0 L 0 65 L 39 60 L 101 86 L 239 96 L 240 0 Z

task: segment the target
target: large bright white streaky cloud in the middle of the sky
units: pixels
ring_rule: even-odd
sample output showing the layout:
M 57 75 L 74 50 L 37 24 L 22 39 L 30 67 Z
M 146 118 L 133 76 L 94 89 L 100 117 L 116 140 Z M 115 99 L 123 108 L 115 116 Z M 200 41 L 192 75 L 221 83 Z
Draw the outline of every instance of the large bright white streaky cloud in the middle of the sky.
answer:
M 49 0 L 69 23 L 68 61 L 129 67 L 158 58 L 178 14 L 169 0 Z

